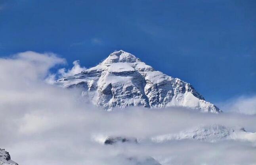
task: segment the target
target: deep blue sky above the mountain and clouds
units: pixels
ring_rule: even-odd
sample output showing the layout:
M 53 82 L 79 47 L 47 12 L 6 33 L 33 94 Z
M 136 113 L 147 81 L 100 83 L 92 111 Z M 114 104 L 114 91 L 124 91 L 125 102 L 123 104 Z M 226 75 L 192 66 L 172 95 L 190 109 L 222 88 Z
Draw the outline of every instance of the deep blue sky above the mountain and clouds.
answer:
M 218 103 L 256 94 L 255 0 L 0 0 L 0 56 L 53 52 L 69 68 L 135 54 Z

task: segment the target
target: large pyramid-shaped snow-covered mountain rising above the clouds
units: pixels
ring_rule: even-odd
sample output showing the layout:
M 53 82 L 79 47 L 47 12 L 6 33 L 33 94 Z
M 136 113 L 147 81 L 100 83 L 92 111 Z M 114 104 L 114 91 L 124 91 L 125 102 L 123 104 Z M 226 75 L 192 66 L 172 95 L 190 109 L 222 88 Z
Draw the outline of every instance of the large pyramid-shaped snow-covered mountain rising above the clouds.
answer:
M 56 81 L 65 88 L 82 88 L 83 96 L 97 106 L 183 106 L 204 112 L 220 109 L 204 100 L 191 84 L 170 77 L 125 51 L 111 53 L 99 65 Z

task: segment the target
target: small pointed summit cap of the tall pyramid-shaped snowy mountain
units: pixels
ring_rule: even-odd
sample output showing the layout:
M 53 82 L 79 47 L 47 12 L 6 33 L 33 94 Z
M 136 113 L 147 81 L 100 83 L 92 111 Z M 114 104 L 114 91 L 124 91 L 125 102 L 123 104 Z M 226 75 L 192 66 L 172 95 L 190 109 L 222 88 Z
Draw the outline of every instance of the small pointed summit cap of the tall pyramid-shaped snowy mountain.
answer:
M 103 61 L 103 64 L 112 64 L 117 62 L 138 62 L 139 58 L 131 53 L 120 50 L 109 54 L 109 56 Z

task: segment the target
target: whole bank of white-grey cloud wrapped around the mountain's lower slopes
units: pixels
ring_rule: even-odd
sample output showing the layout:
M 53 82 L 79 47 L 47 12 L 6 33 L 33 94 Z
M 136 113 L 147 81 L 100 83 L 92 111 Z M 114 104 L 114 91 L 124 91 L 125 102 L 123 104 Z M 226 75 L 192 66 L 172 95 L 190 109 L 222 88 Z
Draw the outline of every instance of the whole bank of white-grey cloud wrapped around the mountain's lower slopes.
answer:
M 20 165 L 135 165 L 136 161 L 127 161 L 126 157 L 149 156 L 162 165 L 255 164 L 256 146 L 250 141 L 103 145 L 109 135 L 145 139 L 210 124 L 245 127 L 255 132 L 256 116 L 208 114 L 184 108 L 103 111 L 85 101 L 77 89 L 46 83 L 50 68 L 65 62 L 53 53 L 31 51 L 0 58 L 0 147 Z M 71 70 L 59 73 L 68 76 L 81 69 L 84 68 L 74 62 Z M 227 108 L 243 110 L 248 102 Z

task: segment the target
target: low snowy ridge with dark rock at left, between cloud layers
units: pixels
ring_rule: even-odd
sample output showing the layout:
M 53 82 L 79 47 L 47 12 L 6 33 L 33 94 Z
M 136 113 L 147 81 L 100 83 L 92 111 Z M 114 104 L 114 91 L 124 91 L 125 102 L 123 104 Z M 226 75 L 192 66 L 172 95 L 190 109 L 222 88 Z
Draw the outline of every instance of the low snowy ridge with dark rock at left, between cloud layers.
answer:
M 135 137 L 109 136 L 104 141 L 104 144 L 164 143 L 185 139 L 204 142 L 216 142 L 225 139 L 256 142 L 256 133 L 247 132 L 243 127 L 226 127 L 223 125 L 213 124 L 208 126 L 193 127 L 178 133 L 158 135 L 145 139 L 136 139 Z

